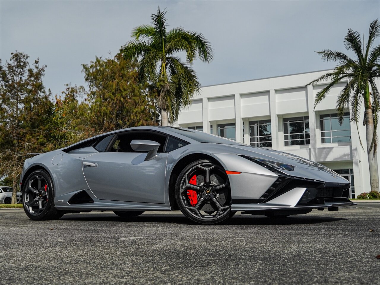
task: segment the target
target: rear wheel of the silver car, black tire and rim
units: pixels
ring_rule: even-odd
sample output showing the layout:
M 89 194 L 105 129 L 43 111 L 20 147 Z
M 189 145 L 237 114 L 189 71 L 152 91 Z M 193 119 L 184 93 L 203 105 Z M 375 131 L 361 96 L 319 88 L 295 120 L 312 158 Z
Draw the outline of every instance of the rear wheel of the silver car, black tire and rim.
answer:
M 22 188 L 22 206 L 31 220 L 57 220 L 62 217 L 64 213 L 54 207 L 54 197 L 53 180 L 43 169 L 33 171 L 25 179 Z

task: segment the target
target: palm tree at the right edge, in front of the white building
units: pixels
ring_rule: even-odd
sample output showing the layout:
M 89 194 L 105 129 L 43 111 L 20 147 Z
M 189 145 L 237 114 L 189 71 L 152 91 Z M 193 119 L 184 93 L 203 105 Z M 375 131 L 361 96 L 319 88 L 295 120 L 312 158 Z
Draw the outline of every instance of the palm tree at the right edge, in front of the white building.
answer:
M 360 34 L 348 29 L 348 33 L 344 38 L 344 45 L 348 51 L 355 53 L 356 59 L 351 59 L 342 52 L 331 51 L 329 49 L 317 52 L 322 55 L 322 59 L 326 62 L 333 60 L 339 62 L 339 64 L 334 68 L 334 71 L 323 74 L 308 84 L 317 84 L 324 81 L 330 82 L 315 96 L 315 108 L 335 84 L 347 80 L 347 84 L 337 98 L 336 108 L 340 124 L 343 122 L 345 108 L 351 105 L 351 121 L 356 123 L 356 128 L 358 129 L 360 108 L 364 102 L 363 125 L 366 126 L 367 155 L 372 191 L 379 191 L 376 129 L 380 112 L 380 95 L 375 84 L 375 78 L 380 77 L 380 44 L 375 47 L 371 46 L 379 35 L 380 23 L 376 19 L 369 25 L 368 42 L 365 47 L 363 43 L 362 48 Z M 371 91 L 369 86 L 371 87 Z

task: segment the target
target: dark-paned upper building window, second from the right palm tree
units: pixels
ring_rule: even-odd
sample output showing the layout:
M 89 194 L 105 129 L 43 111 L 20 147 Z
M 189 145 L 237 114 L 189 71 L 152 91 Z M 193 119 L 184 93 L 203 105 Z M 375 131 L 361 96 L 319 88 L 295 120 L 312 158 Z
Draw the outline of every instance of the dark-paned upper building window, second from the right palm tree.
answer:
M 310 144 L 309 116 L 285 118 L 283 122 L 285 146 Z

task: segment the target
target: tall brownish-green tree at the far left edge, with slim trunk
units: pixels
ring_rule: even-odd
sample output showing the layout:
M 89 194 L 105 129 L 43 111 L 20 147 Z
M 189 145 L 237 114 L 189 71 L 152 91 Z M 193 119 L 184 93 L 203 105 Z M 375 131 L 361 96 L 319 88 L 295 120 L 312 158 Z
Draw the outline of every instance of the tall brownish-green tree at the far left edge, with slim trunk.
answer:
M 46 128 L 53 110 L 42 78 L 46 66 L 37 60 L 32 66 L 28 55 L 11 54 L 10 62 L 0 60 L 0 176 L 13 181 L 12 203 L 24 160 L 30 152 L 46 149 Z

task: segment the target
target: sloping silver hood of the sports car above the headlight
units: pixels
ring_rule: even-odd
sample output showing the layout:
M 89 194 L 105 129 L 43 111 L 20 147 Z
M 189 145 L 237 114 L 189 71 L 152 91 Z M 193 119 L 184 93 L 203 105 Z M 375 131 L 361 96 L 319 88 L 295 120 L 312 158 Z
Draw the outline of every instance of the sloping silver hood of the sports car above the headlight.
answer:
M 279 150 L 264 149 L 252 146 L 228 145 L 228 147 L 230 149 L 234 149 L 234 152 L 239 155 L 245 155 L 249 157 L 261 158 L 285 163 L 288 165 L 293 165 L 293 171 L 283 169 L 279 170 L 290 176 L 340 184 L 349 183 L 346 179 L 344 179 L 342 176 L 335 173 L 328 167 L 321 165 L 320 163 L 317 163 L 315 161 L 299 157 L 298 155 L 289 154 L 287 152 L 282 152 Z

